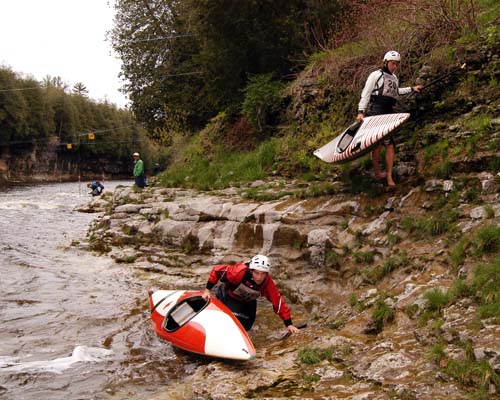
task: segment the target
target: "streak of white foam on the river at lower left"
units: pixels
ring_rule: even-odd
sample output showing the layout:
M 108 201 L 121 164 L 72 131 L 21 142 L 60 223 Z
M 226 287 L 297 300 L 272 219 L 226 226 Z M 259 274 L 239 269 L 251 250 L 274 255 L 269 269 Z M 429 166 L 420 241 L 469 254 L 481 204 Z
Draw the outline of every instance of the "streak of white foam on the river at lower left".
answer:
M 25 361 L 14 357 L 0 357 L 0 372 L 45 371 L 61 374 L 79 362 L 102 362 L 113 352 L 98 347 L 76 346 L 70 357 L 55 358 L 53 360 Z

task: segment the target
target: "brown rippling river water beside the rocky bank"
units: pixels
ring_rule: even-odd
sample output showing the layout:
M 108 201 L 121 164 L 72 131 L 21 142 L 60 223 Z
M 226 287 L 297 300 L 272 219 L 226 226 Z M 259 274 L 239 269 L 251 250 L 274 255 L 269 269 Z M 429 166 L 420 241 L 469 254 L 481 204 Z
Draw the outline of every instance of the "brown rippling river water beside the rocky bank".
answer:
M 0 189 L 0 398 L 146 399 L 206 362 L 152 332 L 146 289 L 164 278 L 72 245 L 89 199 L 78 183 Z

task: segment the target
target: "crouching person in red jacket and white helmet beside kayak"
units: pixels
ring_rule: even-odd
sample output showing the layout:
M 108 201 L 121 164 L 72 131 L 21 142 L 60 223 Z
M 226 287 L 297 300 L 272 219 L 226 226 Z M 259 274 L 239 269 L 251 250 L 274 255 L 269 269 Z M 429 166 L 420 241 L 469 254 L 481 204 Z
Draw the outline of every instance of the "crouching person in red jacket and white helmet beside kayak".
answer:
M 257 314 L 257 299 L 264 296 L 269 300 L 284 321 L 289 333 L 297 333 L 293 326 L 290 307 L 281 297 L 274 281 L 269 276 L 271 264 L 269 258 L 256 255 L 250 262 L 234 265 L 216 265 L 208 277 L 202 297 L 210 299 L 210 290 L 222 282 L 216 289 L 215 297 L 221 300 L 249 331 Z

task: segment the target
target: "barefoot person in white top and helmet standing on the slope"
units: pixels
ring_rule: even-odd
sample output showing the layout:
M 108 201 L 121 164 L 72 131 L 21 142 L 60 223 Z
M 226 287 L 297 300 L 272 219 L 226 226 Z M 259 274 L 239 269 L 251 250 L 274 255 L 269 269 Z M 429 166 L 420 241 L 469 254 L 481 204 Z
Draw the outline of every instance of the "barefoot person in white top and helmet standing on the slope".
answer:
M 398 95 L 411 92 L 420 92 L 421 85 L 414 87 L 399 87 L 399 81 L 394 71 L 401 61 L 401 56 L 397 51 L 389 51 L 384 56 L 382 68 L 373 71 L 366 80 L 365 87 L 361 92 L 361 100 L 358 104 L 358 116 L 356 122 L 361 123 L 364 116 L 381 114 L 392 114 Z M 394 139 L 392 135 L 387 136 L 382 143 L 385 146 L 385 167 L 386 172 L 380 170 L 380 151 L 382 144 L 378 144 L 372 151 L 373 169 L 375 178 L 387 179 L 387 185 L 396 186 L 392 179 L 392 167 L 394 164 Z

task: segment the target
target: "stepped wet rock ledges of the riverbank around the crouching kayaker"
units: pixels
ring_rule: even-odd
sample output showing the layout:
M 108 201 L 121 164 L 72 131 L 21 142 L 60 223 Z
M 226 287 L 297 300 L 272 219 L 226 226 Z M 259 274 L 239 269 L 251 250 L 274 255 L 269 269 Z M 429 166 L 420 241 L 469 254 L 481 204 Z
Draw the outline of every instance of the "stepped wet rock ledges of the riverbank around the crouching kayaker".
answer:
M 267 254 L 294 320 L 308 321 L 300 335 L 280 340 L 283 326 L 262 304 L 251 332 L 257 360 L 199 367 L 176 387 L 189 392 L 182 398 L 462 399 L 470 389 L 443 372 L 446 364 L 472 351 L 500 372 L 498 320 L 480 319 L 467 296 L 431 312 L 426 295 L 446 292 L 458 276 L 472 279 L 474 266 L 495 256 L 454 258 L 464 238 L 500 230 L 499 175 L 403 183 L 392 192 L 373 182 L 370 195 L 356 196 L 335 182 L 335 194 L 305 199 L 296 183 L 254 186 L 274 198 L 288 194 L 257 202 L 245 188 L 121 187 L 81 209 L 106 210 L 89 233 L 91 248 L 162 273 L 169 288 L 203 288 L 212 265 Z M 209 383 L 192 384 L 200 379 Z M 488 380 L 481 390 L 498 396 L 496 385 Z

